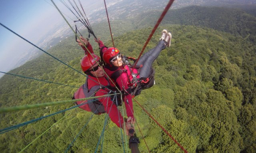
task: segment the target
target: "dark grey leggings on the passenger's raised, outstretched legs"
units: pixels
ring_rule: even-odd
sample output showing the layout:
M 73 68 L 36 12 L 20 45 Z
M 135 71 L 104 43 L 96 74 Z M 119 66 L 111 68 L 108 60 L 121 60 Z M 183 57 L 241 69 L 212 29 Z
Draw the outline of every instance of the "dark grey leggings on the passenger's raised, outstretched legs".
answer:
M 150 69 L 152 64 L 159 56 L 160 52 L 165 48 L 164 43 L 164 41 L 160 40 L 155 48 L 151 49 L 140 57 L 138 63 L 136 64 L 137 66 L 142 65 L 142 68 L 140 68 L 140 77 L 149 77 L 151 75 Z

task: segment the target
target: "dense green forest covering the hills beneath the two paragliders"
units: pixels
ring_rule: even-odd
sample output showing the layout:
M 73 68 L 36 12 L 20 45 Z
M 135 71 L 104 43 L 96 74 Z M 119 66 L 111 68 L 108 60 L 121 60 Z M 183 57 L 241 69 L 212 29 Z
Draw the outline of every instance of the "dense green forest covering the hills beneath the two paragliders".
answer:
M 172 44 L 170 48 L 163 50 L 154 62 L 156 84 L 142 91 L 136 99 L 189 153 L 253 153 L 256 149 L 256 46 L 254 39 L 256 30 L 253 26 L 255 17 L 238 11 L 236 20 L 240 22 L 235 20 L 232 22 L 230 19 L 235 19 L 235 16 L 232 17 L 234 12 L 225 12 L 225 9 L 221 8 L 206 11 L 209 8 L 194 7 L 185 8 L 194 9 L 194 12 L 180 14 L 182 16 L 180 20 L 185 18 L 184 21 L 188 24 L 166 22 L 170 18 L 166 16 L 165 21 L 154 34 L 146 50 L 156 45 L 162 29 L 172 32 Z M 198 9 L 204 11 L 200 12 Z M 195 23 L 198 18 L 194 18 L 193 22 L 186 20 L 189 14 L 195 12 L 198 12 L 197 17 L 207 15 L 206 12 L 214 17 L 216 16 L 214 11 L 220 12 L 219 9 L 224 12 L 218 16 L 223 20 L 216 20 L 213 27 L 208 23 L 209 20 L 201 20 L 205 22 L 204 26 Z M 150 26 L 150 22 L 155 21 L 154 17 L 157 18 L 151 15 L 152 19 L 149 20 L 149 16 L 145 17 L 147 20 L 140 20 L 141 23 L 145 22 L 144 26 Z M 175 16 L 178 18 L 177 15 Z M 248 16 L 248 18 L 241 19 L 241 16 Z M 230 20 L 230 26 L 233 26 L 233 29 L 223 28 L 222 25 L 226 24 L 226 20 Z M 136 27 L 135 24 L 132 26 L 125 21 L 120 23 L 116 22 L 112 25 L 114 34 L 116 34 L 114 35 L 115 46 L 121 50 L 122 54 L 138 57 L 152 27 L 143 28 L 142 24 Z M 248 25 L 246 30 L 238 32 L 244 25 Z M 98 28 L 100 26 L 107 30 L 107 27 L 103 27 L 104 24 L 95 27 L 102 30 Z M 124 31 L 126 33 L 122 33 L 122 28 L 117 28 L 120 26 L 126 29 Z M 112 46 L 108 36 L 109 32 L 106 30 L 98 31 L 96 35 L 105 41 L 106 46 Z M 91 39 L 90 42 L 93 43 L 93 40 Z M 93 46 L 95 52 L 98 52 L 97 44 L 93 43 Z M 60 42 L 48 51 L 73 68 L 80 70 L 80 60 L 84 53 L 74 42 L 74 37 Z M 48 55 L 42 55 L 27 62 L 10 73 L 73 86 L 80 86 L 85 81 L 83 75 Z M 5 75 L 0 79 L 0 106 L 9 107 L 71 99 L 76 89 Z M 74 104 L 70 103 L 14 113 L 1 113 L 0 129 L 72 106 Z M 150 152 L 183 152 L 135 102 L 134 113 Z M 60 121 L 23 152 L 64 152 L 91 115 L 92 113 L 79 108 L 71 109 L 1 134 L 0 150 L 3 153 L 19 152 L 38 135 Z M 94 152 L 104 126 L 104 118 L 104 114 L 94 115 L 69 152 Z M 141 142 L 140 151 L 147 153 L 148 149 L 139 133 L 138 126 L 135 126 L 135 130 Z M 120 129 L 110 119 L 108 119 L 104 133 L 104 144 L 99 148 L 106 153 L 123 152 Z

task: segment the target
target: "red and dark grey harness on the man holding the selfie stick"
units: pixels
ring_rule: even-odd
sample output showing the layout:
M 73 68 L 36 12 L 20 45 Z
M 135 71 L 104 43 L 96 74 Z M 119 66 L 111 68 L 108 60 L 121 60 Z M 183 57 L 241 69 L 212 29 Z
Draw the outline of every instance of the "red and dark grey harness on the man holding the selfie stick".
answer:
M 106 78 L 107 79 L 107 78 Z M 95 93 L 100 90 L 100 89 L 104 89 L 104 88 L 108 88 L 111 89 L 112 91 L 109 91 L 108 94 L 113 94 L 116 93 L 116 89 L 114 87 L 110 86 L 110 83 L 108 81 L 108 85 L 103 87 L 100 85 L 95 85 L 93 86 L 90 90 L 88 89 L 88 84 L 87 84 L 87 80 L 88 77 L 86 78 L 85 83 L 74 93 L 74 96 L 72 99 L 81 99 L 81 98 L 86 98 L 86 97 L 94 97 Z M 108 79 L 107 79 L 108 80 Z M 103 97 L 104 98 L 104 97 Z M 111 95 L 110 98 L 112 99 L 113 103 L 118 106 L 118 105 L 122 105 L 121 103 L 121 96 L 119 95 Z M 84 105 L 79 106 L 79 108 L 82 108 L 86 111 L 91 111 L 94 114 L 101 114 L 101 113 L 105 113 L 105 109 L 104 106 L 102 105 L 102 103 L 96 99 L 88 99 L 85 101 L 76 101 L 74 102 L 76 105 L 80 105 L 82 103 L 85 103 Z

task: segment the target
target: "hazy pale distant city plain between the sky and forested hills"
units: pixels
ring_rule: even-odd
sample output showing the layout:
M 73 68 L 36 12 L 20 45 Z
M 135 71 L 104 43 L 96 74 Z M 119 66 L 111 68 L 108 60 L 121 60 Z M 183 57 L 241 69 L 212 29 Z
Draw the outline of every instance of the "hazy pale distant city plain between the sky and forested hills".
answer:
M 125 20 L 136 17 L 138 14 L 145 13 L 151 10 L 163 10 L 168 0 L 114 0 L 112 3 L 107 4 L 108 14 L 110 20 Z M 171 9 L 178 9 L 191 5 L 199 6 L 225 6 L 225 5 L 236 5 L 236 4 L 256 4 L 255 0 L 177 0 L 174 1 Z M 86 7 L 85 7 L 86 9 Z M 90 8 L 91 10 L 92 8 Z M 90 24 L 97 24 L 99 22 L 106 21 L 106 11 L 104 6 L 100 8 L 94 8 L 94 11 L 90 11 L 88 14 Z M 74 20 L 75 17 L 74 17 Z M 74 24 L 72 24 L 74 25 Z M 83 30 L 85 27 L 82 24 L 78 24 L 78 28 Z M 51 31 L 49 31 L 40 40 L 39 47 L 43 50 L 48 50 L 52 46 L 58 44 L 60 41 L 66 39 L 73 34 L 70 27 L 66 22 L 59 23 Z M 32 60 L 42 54 L 38 52 L 38 49 L 31 48 L 27 51 L 24 57 L 18 60 L 12 69 L 21 66 L 29 60 Z M 1 76 L 0 76 L 1 77 Z

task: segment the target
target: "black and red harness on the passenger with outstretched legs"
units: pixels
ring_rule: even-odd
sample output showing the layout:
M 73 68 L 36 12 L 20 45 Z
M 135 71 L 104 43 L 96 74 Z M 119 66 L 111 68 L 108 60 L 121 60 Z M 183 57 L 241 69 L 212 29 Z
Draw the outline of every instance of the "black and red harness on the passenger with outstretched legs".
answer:
M 124 92 L 125 95 L 130 94 L 130 95 L 132 95 L 132 97 L 134 97 L 136 95 L 139 95 L 142 89 L 148 89 L 148 88 L 150 88 L 154 85 L 155 71 L 152 67 L 150 68 L 150 76 L 149 77 L 137 78 L 137 76 L 140 74 L 140 68 L 142 67 L 142 65 L 141 66 L 135 66 L 134 68 L 138 72 L 134 73 L 134 72 L 132 72 L 132 69 L 133 69 L 134 65 L 130 64 L 130 61 L 133 61 L 135 63 L 137 59 L 123 56 L 122 60 L 123 60 L 123 64 L 128 66 L 128 68 L 131 72 L 131 75 L 132 75 L 132 80 L 128 79 L 129 80 L 128 86 L 130 86 L 130 87 Z M 111 78 L 116 80 L 123 72 L 126 72 L 126 71 L 127 71 L 126 69 L 117 70 L 116 72 L 114 72 L 111 75 Z M 127 77 L 130 78 L 128 76 L 128 74 L 127 74 Z M 119 89 L 121 89 L 121 88 L 119 88 Z

